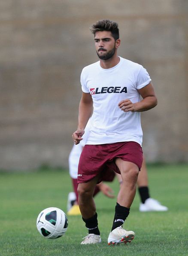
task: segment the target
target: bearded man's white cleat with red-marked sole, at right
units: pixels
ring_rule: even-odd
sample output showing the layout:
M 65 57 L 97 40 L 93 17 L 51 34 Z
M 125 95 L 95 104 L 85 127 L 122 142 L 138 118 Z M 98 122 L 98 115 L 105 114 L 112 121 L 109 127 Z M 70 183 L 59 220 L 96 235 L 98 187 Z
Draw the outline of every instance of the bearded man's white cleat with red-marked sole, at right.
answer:
M 127 244 L 127 242 L 130 243 L 134 239 L 134 236 L 133 231 L 127 231 L 120 226 L 109 233 L 108 244 Z

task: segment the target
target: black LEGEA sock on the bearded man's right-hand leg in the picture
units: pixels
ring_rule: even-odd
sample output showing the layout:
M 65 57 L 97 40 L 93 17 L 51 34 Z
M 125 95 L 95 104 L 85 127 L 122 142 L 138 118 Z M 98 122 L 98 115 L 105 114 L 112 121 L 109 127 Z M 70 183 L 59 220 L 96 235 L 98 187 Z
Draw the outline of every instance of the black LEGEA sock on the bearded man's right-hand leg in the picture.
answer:
M 124 221 L 127 219 L 127 216 L 129 215 L 129 211 L 130 211 L 130 208 L 121 206 L 118 203 L 116 204 L 112 230 L 123 225 Z

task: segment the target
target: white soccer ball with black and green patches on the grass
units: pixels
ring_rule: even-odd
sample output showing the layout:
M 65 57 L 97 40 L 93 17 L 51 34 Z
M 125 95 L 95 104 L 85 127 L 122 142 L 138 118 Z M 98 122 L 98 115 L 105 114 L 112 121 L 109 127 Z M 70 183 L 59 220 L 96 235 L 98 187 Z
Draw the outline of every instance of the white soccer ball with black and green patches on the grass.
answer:
M 67 231 L 67 215 L 59 208 L 46 208 L 39 213 L 36 219 L 36 227 L 42 237 L 50 239 L 61 237 Z

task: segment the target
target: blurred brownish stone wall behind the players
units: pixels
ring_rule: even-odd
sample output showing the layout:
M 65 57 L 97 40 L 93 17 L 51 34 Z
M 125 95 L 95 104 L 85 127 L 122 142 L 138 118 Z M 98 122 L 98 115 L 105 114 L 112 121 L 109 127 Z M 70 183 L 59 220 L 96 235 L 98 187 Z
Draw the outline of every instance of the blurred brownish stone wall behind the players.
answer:
M 104 18 L 158 95 L 142 113 L 147 161 L 188 161 L 188 1 L 0 0 L 0 169 L 67 168 L 80 72 L 97 61 L 89 27 Z

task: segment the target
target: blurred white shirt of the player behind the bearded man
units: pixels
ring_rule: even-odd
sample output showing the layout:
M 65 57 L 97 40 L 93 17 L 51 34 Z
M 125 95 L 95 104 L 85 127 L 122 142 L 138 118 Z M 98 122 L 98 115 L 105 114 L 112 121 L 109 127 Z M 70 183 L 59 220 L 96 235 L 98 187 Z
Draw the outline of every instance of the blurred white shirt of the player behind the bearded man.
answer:
M 89 129 L 91 128 L 91 119 L 88 120 L 88 123 L 85 127 L 85 133 L 83 135 L 83 140 L 80 141 L 78 145 L 73 145 L 72 150 L 69 154 L 69 174 L 70 177 L 73 179 L 77 179 L 78 175 L 78 164 L 80 155 L 82 153 L 82 149 L 85 146 L 86 140 L 89 136 Z

